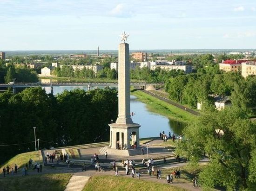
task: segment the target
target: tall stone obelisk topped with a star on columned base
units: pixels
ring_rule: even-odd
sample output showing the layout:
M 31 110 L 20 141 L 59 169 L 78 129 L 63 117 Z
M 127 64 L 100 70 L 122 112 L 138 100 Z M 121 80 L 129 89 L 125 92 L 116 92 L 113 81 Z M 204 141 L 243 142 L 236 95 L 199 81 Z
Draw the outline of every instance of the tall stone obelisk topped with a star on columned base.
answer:
M 118 48 L 118 117 L 110 126 L 111 148 L 130 149 L 140 146 L 139 124 L 130 115 L 130 54 L 128 35 L 124 32 Z M 130 144 L 130 137 L 132 142 Z

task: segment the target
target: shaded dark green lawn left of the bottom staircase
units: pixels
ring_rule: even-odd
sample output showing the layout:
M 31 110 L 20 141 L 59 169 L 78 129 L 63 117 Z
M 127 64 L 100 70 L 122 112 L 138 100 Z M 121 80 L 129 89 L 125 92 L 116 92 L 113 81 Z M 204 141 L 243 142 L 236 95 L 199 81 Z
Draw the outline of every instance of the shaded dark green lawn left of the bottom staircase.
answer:
M 0 191 L 64 191 L 70 173 L 0 178 Z

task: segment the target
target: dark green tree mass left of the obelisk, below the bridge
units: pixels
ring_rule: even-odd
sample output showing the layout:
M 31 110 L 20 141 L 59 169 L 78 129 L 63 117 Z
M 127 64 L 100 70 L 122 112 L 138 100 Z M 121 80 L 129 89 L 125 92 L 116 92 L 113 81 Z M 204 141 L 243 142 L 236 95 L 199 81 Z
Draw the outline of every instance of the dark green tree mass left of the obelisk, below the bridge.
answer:
M 116 90 L 109 88 L 65 90 L 56 97 L 40 87 L 5 92 L 0 94 L 0 145 L 33 141 L 33 127 L 37 138 L 50 142 L 41 142 L 41 148 L 107 141 L 117 102 Z M 0 161 L 33 150 L 34 143 L 0 146 Z

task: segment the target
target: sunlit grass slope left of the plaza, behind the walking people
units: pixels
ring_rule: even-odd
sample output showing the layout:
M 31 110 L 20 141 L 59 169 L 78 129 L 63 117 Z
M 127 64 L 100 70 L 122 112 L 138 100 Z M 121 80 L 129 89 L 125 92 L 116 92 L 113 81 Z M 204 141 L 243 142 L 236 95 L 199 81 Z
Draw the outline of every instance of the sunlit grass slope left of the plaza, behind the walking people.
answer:
M 18 165 L 18 168 L 21 168 L 22 166 L 25 166 L 26 163 L 28 163 L 28 160 L 30 158 L 33 159 L 34 161 L 42 163 L 41 151 L 32 151 L 28 153 L 17 154 L 16 156 L 7 160 L 4 164 L 0 166 L 0 172 L 3 172 L 3 168 L 6 167 L 7 165 L 10 166 L 10 171 L 12 168 L 14 169 L 15 164 Z

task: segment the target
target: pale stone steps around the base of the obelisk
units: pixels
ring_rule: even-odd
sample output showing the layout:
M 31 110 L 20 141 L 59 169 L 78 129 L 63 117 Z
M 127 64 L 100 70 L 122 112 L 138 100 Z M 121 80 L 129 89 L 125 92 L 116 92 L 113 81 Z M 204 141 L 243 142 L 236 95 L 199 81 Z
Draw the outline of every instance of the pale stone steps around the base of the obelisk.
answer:
M 99 152 L 101 154 L 105 154 L 108 152 L 108 155 L 119 155 L 119 156 L 134 156 L 134 155 L 141 155 L 141 148 L 136 149 L 128 149 L 128 150 L 118 150 L 118 149 L 111 149 L 109 146 L 104 146 L 99 149 Z M 145 154 L 147 154 L 147 150 L 145 151 Z M 148 152 L 149 153 L 149 152 Z

